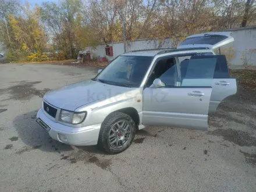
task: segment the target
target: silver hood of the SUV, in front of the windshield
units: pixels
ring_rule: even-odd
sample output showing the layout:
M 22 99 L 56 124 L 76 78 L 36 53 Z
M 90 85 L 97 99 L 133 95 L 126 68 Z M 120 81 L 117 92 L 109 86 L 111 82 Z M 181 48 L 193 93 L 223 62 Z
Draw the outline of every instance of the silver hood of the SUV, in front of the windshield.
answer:
M 85 80 L 48 91 L 44 95 L 44 100 L 57 108 L 74 111 L 80 106 L 115 97 L 133 89 L 135 88 L 113 86 L 98 81 Z

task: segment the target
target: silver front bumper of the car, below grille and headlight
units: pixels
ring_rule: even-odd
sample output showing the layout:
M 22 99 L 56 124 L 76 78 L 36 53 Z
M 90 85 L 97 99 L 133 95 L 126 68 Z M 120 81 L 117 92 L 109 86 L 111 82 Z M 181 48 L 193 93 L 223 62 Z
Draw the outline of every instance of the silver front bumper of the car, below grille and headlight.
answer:
M 48 133 L 54 140 L 70 145 L 96 145 L 98 142 L 101 124 L 80 128 L 69 127 L 49 119 L 42 108 L 37 112 L 37 118 L 51 128 Z M 66 137 L 66 141 L 61 140 L 60 134 Z

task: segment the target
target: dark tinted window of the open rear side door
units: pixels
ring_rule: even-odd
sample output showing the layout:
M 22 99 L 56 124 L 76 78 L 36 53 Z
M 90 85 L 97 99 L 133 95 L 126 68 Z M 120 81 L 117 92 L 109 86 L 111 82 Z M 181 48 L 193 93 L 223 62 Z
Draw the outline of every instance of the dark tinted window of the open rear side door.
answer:
M 217 61 L 214 70 L 214 79 L 229 79 L 229 69 L 227 67 L 227 60 L 225 55 L 191 56 L 191 59 L 197 58 L 216 58 Z

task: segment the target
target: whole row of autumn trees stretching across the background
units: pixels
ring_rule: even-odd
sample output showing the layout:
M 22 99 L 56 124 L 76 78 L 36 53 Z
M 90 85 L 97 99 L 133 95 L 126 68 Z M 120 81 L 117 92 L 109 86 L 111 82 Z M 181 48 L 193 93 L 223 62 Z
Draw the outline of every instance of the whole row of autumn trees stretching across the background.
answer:
M 52 47 L 58 58 L 76 58 L 102 43 L 168 37 L 177 44 L 187 35 L 255 24 L 255 0 L 62 0 L 33 7 L 0 0 L 0 42 L 20 56 Z

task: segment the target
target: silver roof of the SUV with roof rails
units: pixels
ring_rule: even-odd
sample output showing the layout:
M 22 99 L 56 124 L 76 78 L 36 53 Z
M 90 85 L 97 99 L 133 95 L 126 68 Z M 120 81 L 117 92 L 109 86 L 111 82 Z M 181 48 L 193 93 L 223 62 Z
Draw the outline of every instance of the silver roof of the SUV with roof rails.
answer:
M 155 56 L 155 55 L 161 55 L 161 54 L 168 54 L 168 53 L 178 53 L 181 51 L 200 51 L 200 50 L 209 50 L 211 49 L 207 47 L 197 47 L 197 48 L 181 48 L 181 49 L 176 49 L 176 48 L 166 48 L 166 49 L 144 49 L 144 50 L 136 50 L 136 51 L 130 51 L 125 54 L 122 54 L 123 56 Z

